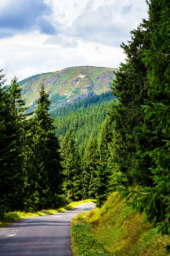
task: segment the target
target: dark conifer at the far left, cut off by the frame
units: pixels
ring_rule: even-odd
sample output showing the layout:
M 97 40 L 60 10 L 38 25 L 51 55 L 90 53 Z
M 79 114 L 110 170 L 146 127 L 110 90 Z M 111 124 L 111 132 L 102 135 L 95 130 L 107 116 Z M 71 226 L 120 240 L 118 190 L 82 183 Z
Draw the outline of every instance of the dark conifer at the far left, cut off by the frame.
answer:
M 4 75 L 0 75 L 0 205 L 3 212 L 23 208 L 24 176 L 21 122 L 14 114 L 11 94 L 3 87 L 4 82 Z

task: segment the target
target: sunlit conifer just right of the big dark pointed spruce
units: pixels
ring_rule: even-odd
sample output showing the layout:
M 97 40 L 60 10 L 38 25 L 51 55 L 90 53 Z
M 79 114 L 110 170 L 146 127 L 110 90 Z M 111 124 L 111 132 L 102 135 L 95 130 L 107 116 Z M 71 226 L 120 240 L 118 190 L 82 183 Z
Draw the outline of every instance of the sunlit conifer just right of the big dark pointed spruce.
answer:
M 81 163 L 79 151 L 75 142 L 73 128 L 70 127 L 65 134 L 61 145 L 62 168 L 65 180 L 63 190 L 68 198 L 80 200 L 81 194 Z

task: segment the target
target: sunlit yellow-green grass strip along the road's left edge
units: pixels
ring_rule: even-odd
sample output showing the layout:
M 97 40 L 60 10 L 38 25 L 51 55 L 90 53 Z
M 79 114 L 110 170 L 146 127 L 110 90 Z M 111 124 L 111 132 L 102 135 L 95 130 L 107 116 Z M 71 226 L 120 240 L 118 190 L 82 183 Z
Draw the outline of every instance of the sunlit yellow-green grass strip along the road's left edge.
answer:
M 95 200 L 86 199 L 82 201 L 72 202 L 68 204 L 66 207 L 59 208 L 59 209 L 48 209 L 48 210 L 41 210 L 39 212 L 8 212 L 4 215 L 2 219 L 0 219 L 0 227 L 4 227 L 6 224 L 11 223 L 11 221 L 21 220 L 23 218 L 31 218 L 31 217 L 38 217 L 44 215 L 52 215 L 59 212 L 65 212 L 73 209 L 79 204 L 91 203 L 95 202 Z

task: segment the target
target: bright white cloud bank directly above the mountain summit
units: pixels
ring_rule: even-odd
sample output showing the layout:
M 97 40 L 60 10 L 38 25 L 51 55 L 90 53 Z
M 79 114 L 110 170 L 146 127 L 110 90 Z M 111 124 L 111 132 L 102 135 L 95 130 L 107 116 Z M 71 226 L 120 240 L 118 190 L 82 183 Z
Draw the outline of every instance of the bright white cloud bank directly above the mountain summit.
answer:
M 18 36 L 20 39 L 21 36 Z M 6 39 L 7 40 L 7 39 Z M 36 41 L 36 38 L 32 38 Z M 6 45 L 3 57 L 0 57 L 0 67 L 6 73 L 6 84 L 16 75 L 18 81 L 35 74 L 61 70 L 73 66 L 101 66 L 119 67 L 124 61 L 122 49 L 108 47 L 94 43 L 78 42 L 77 48 L 62 48 L 60 45 L 53 47 L 27 47 L 19 44 Z

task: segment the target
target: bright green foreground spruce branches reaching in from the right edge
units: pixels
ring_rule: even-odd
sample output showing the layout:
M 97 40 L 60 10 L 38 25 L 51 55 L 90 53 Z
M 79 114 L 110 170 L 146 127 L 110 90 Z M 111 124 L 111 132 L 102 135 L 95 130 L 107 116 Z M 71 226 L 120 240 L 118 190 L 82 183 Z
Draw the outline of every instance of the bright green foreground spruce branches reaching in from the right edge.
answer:
M 170 85 L 170 55 L 160 54 L 159 52 L 145 52 L 144 61 L 153 67 L 148 73 L 150 77 L 150 86 L 155 86 L 155 90 L 163 90 L 164 94 L 170 97 L 168 90 Z M 160 68 L 160 69 L 159 69 Z M 161 70 L 164 72 L 156 72 Z M 163 69 L 163 70 L 162 70 Z M 170 101 L 169 101 L 170 102 Z M 122 195 L 127 199 L 132 198 L 130 204 L 140 213 L 145 212 L 146 219 L 153 222 L 158 231 L 162 235 L 170 235 L 170 103 L 167 105 L 162 103 L 153 103 L 152 106 L 144 106 L 145 113 L 152 117 L 153 124 L 161 128 L 163 134 L 166 135 L 164 145 L 155 148 L 150 152 L 150 156 L 154 157 L 157 167 L 151 169 L 153 174 L 154 187 L 145 187 L 140 191 L 127 190 L 119 188 L 123 191 Z M 169 250 L 167 248 L 167 250 Z

